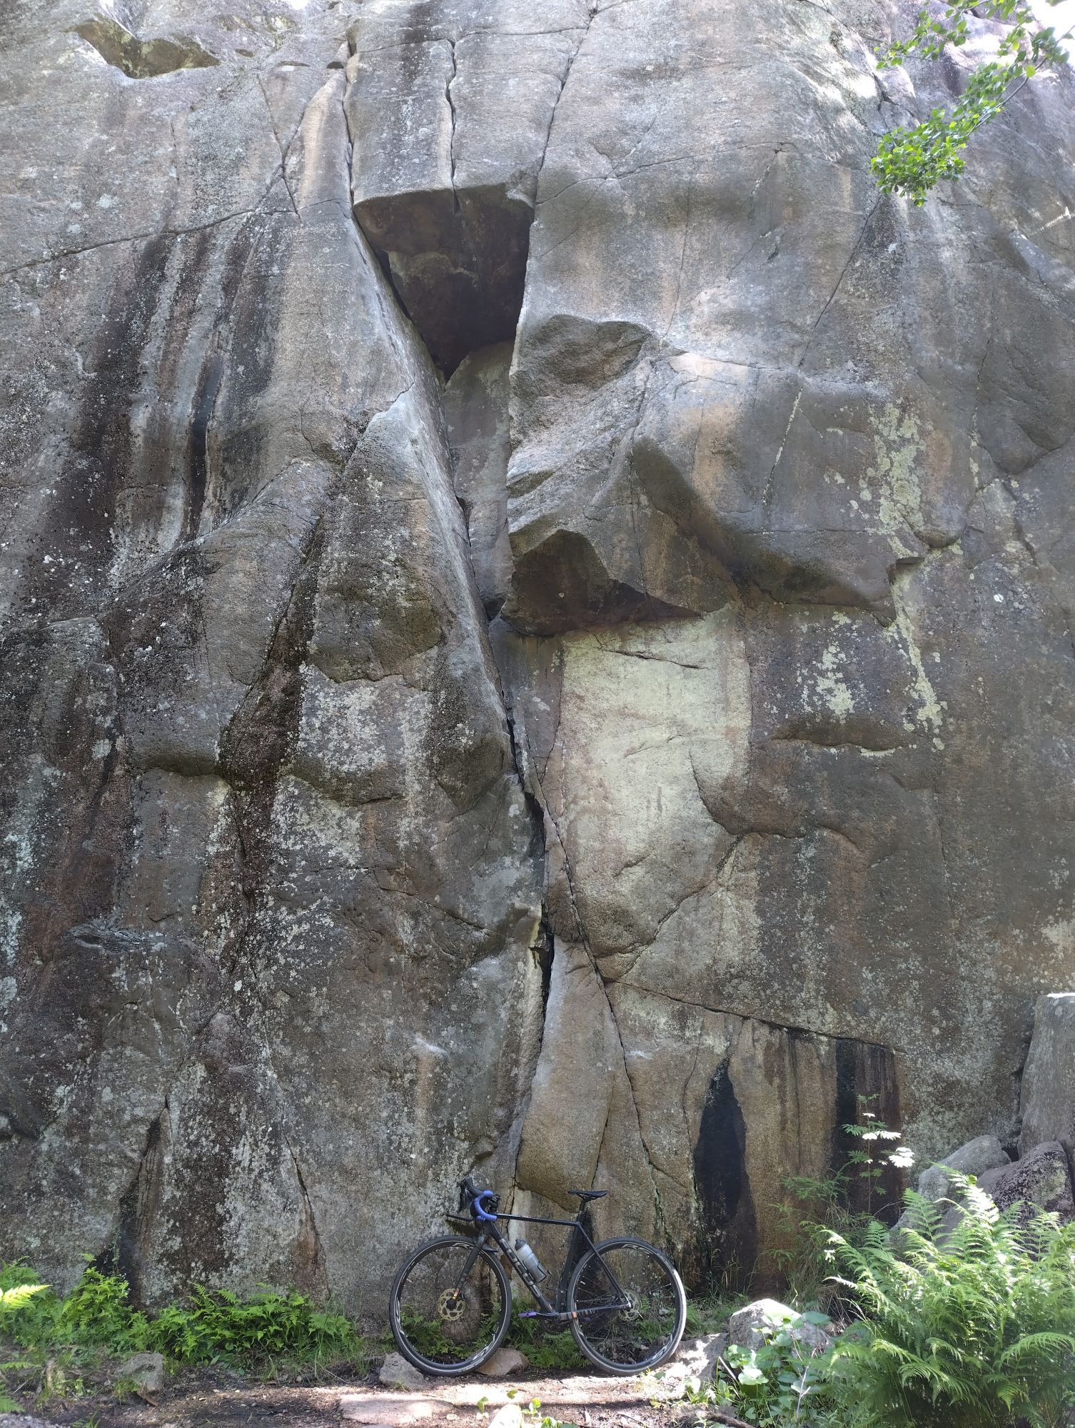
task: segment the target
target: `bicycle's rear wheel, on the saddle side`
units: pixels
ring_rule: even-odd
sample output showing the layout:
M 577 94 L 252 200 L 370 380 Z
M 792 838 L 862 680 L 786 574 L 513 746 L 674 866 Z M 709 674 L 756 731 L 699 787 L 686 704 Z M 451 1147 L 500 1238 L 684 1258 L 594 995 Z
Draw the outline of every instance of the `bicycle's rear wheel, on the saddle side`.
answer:
M 605 1240 L 591 1250 L 571 1277 L 567 1301 L 575 1342 L 610 1374 L 664 1364 L 687 1322 L 680 1275 L 644 1240 Z

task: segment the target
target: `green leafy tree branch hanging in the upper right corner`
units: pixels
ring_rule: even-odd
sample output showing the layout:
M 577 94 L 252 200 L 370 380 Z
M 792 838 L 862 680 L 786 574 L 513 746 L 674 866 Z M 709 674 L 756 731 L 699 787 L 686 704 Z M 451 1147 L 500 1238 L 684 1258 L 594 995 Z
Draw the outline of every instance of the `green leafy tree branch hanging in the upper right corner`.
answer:
M 1048 3 L 1055 6 L 1061 0 Z M 885 134 L 871 161 L 882 193 L 905 194 L 921 204 L 939 180 L 958 178 L 964 171 L 964 150 L 976 130 L 996 119 L 1038 70 L 1058 69 L 1068 60 L 1064 41 L 1072 30 L 1058 36 L 1052 26 L 1039 24 L 1029 0 L 948 0 L 939 16 L 921 10 L 914 33 L 878 54 L 878 69 L 912 57 L 937 60 L 948 44 L 962 47 L 969 39 L 971 11 L 1008 26 L 996 57 L 971 71 L 951 109 L 934 109 L 922 123 Z

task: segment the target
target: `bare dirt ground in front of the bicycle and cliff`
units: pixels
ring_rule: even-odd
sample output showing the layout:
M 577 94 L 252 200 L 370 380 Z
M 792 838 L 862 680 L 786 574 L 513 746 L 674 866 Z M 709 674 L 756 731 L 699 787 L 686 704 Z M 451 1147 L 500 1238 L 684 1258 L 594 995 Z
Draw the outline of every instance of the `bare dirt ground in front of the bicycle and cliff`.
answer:
M 203 1424 L 238 1428 L 240 1424 L 273 1424 L 287 1428 L 344 1428 L 345 1424 L 383 1428 L 483 1428 L 508 1402 L 530 1409 L 541 1407 L 525 1424 L 540 1428 L 544 1417 L 578 1428 L 670 1428 L 682 1421 L 682 1408 L 652 1402 L 661 1392 L 650 1378 L 610 1378 L 575 1372 L 547 1375 L 528 1371 L 513 1379 L 478 1374 L 463 1379 L 430 1381 L 417 1392 L 381 1388 L 373 1378 L 320 1382 L 310 1387 L 261 1385 L 236 1375 L 203 1371 L 170 1379 L 156 1405 L 130 1398 L 86 1395 L 31 1408 L 27 1417 L 0 1414 L 0 1428 L 200 1428 Z M 513 1394 L 514 1391 L 514 1394 Z M 483 1409 L 478 1401 L 485 1399 Z M 677 1411 L 678 1409 L 678 1411 Z M 29 1417 L 31 1415 L 31 1417 Z

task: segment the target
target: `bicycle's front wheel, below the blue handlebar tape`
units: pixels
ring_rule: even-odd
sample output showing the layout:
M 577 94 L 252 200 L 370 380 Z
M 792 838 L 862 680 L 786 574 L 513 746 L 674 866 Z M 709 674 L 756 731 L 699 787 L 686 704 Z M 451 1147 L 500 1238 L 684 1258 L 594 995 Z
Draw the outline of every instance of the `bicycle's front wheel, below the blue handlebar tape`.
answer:
M 388 1321 L 400 1352 L 423 1374 L 468 1374 L 508 1331 L 511 1285 L 473 1240 L 431 1240 L 395 1275 Z

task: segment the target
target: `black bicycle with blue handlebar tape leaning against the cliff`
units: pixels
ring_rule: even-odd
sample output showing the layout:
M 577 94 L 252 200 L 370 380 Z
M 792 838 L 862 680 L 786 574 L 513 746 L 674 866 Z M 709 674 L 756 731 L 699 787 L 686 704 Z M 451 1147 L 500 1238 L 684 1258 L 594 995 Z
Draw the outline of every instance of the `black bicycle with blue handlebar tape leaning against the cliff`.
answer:
M 687 1322 L 687 1295 L 671 1261 L 644 1240 L 594 1244 L 582 1217 L 608 1191 L 570 1194 L 580 1198 L 574 1220 L 501 1215 L 491 1190 L 478 1190 L 470 1175 L 460 1181 L 458 1211 L 445 1220 L 471 1232 L 420 1245 L 391 1287 L 393 1338 L 408 1362 L 424 1374 L 458 1375 L 491 1358 L 511 1325 L 511 1271 L 537 1305 L 523 1318 L 565 1322 L 580 1349 L 605 1372 L 641 1374 L 672 1357 Z M 508 1221 L 571 1230 L 551 1301 L 541 1291 L 548 1271 L 534 1251 L 501 1232 L 500 1224 Z

